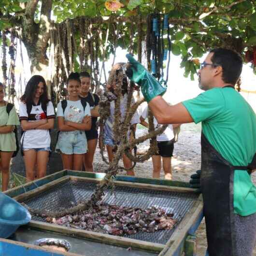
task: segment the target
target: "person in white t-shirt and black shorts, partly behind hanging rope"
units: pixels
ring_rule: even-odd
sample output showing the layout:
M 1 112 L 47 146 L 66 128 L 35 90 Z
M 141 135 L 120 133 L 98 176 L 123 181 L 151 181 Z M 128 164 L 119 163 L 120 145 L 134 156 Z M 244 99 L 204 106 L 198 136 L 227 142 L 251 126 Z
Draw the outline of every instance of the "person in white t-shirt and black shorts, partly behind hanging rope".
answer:
M 145 119 L 148 116 L 148 106 L 142 112 L 140 117 L 141 124 L 148 128 L 148 123 L 145 122 Z M 154 126 L 155 129 L 160 128 L 162 125 L 159 125 L 154 117 Z M 163 133 L 156 136 L 158 153 L 152 156 L 153 162 L 153 178 L 160 178 L 160 171 L 162 168 L 161 158 L 163 162 L 163 170 L 165 173 L 165 179 L 171 180 L 171 156 L 174 148 L 174 133 L 173 128 L 180 125 L 168 125 Z

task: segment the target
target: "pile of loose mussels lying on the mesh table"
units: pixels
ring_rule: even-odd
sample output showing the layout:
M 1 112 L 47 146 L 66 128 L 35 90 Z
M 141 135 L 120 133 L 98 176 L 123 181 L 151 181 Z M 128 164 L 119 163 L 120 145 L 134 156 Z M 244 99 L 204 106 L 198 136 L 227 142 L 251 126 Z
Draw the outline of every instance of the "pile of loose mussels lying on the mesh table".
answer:
M 47 222 L 71 228 L 123 236 L 132 235 L 139 231 L 155 232 L 171 229 L 177 220 L 172 213 L 163 209 L 151 207 L 124 207 L 109 204 L 99 204 L 93 208 L 61 218 L 46 218 Z

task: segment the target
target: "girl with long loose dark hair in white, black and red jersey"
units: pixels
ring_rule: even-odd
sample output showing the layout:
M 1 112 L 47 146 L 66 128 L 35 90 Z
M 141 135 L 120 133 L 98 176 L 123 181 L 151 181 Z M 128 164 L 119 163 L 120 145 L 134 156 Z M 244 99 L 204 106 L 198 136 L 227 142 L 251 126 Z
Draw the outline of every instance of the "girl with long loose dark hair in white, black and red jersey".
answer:
M 49 129 L 54 127 L 55 119 L 53 103 L 47 97 L 46 83 L 41 75 L 34 75 L 29 79 L 20 100 L 19 118 L 23 130 L 21 150 L 27 181 L 33 181 L 46 175 L 51 151 Z

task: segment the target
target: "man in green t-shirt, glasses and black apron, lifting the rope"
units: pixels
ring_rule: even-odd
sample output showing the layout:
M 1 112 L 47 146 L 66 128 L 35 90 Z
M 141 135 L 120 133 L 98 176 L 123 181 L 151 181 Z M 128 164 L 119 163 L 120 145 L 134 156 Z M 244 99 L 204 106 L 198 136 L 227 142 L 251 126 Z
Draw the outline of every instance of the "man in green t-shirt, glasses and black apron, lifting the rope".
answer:
M 128 77 L 159 124 L 202 122 L 200 185 L 209 256 L 252 256 L 256 243 L 256 114 L 234 89 L 242 58 L 214 49 L 201 64 L 198 97 L 170 106 L 166 88 L 133 57 Z

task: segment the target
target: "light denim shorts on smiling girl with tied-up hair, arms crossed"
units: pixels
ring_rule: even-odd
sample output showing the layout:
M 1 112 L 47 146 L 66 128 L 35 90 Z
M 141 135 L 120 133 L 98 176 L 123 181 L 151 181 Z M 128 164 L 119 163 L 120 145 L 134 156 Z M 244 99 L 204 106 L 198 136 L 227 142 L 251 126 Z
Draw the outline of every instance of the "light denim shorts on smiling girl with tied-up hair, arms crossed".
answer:
M 85 154 L 87 152 L 85 131 L 61 131 L 58 136 L 56 152 L 66 155 Z

